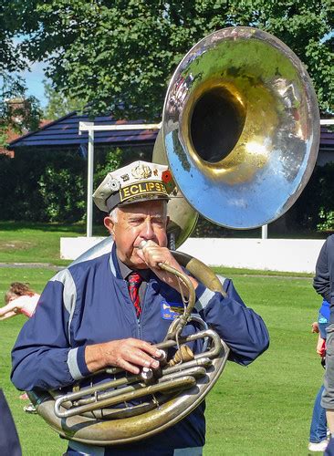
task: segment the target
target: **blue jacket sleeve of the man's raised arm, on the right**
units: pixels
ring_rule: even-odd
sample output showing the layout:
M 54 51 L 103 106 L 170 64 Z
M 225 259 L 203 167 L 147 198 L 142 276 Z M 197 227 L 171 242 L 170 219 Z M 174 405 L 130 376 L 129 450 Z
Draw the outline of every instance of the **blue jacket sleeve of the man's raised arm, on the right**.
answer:
M 196 309 L 230 348 L 229 359 L 247 366 L 269 346 L 266 325 L 254 310 L 245 306 L 232 281 L 225 279 L 226 296 L 199 285 Z

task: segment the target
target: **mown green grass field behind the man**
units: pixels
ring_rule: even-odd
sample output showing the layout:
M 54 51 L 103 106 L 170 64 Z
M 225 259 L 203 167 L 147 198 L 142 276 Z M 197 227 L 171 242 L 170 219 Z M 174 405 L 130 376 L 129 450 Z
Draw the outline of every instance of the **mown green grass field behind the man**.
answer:
M 28 231 L 24 235 L 11 231 L 5 233 L 0 223 L 0 263 L 9 263 L 12 258 L 8 251 L 4 251 L 8 234 L 20 243 L 26 241 L 26 235 L 33 241 L 44 237 L 47 245 L 47 239 L 53 236 L 56 239 L 61 233 L 57 230 L 57 235 L 50 232 L 47 236 L 47 233 L 38 233 L 32 227 Z M 65 232 L 75 233 L 75 230 Z M 59 264 L 52 260 L 57 257 L 58 244 L 56 241 L 49 244 L 54 247 L 44 255 L 43 250 L 47 247 L 41 247 L 39 242 L 35 247 L 25 248 L 21 244 L 16 259 L 12 258 L 11 262 L 24 263 L 24 257 L 26 262 L 29 261 L 26 249 L 31 248 L 30 261 Z M 313 401 L 323 376 L 315 353 L 317 337 L 310 333 L 320 299 L 312 289 L 310 276 L 244 273 L 223 271 L 223 275 L 232 276 L 246 304 L 263 316 L 271 344 L 266 353 L 248 368 L 227 363 L 207 397 L 204 455 L 308 454 Z M 0 302 L 3 302 L 10 282 L 26 281 L 37 291 L 42 291 L 47 279 L 54 274 L 54 270 L 47 268 L 0 268 Z M 10 351 L 24 323 L 24 316 L 0 322 L 1 387 L 16 421 L 23 454 L 60 455 L 66 449 L 66 442 L 60 440 L 38 416 L 23 411 L 24 401 L 18 399 L 19 392 L 9 379 Z

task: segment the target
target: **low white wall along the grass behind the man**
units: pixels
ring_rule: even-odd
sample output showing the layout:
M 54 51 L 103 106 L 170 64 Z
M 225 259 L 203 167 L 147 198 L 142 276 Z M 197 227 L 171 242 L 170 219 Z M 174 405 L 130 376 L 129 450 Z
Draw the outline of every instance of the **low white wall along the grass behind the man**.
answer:
M 60 258 L 75 260 L 103 237 L 60 239 Z M 270 271 L 311 273 L 324 240 L 189 238 L 179 250 L 205 264 Z

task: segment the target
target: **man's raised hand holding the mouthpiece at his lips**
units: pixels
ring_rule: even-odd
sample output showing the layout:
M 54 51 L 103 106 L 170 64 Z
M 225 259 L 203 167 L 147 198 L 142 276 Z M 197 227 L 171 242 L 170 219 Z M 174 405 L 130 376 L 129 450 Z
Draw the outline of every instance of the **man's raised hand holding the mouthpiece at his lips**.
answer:
M 165 271 L 159 266 L 160 263 L 168 264 L 180 273 L 184 274 L 183 268 L 180 264 L 178 264 L 167 247 L 161 247 L 153 241 L 146 241 L 143 243 L 141 249 L 138 249 L 137 254 L 163 282 L 172 286 L 172 288 L 177 291 L 180 290 L 179 281 L 176 275 Z M 193 283 L 193 287 L 196 288 L 198 282 L 193 277 L 189 278 Z M 185 288 L 183 289 L 183 292 L 187 295 L 187 290 Z

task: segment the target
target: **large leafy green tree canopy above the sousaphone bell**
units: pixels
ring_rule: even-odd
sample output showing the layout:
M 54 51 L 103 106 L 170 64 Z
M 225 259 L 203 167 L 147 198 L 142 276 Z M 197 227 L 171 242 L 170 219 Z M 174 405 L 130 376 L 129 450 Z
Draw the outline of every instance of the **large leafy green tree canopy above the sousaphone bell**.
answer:
M 4 3 L 4 0 L 3 0 Z M 12 3 L 12 2 L 10 2 Z M 184 54 L 225 26 L 256 26 L 282 39 L 308 67 L 322 111 L 333 109 L 332 0 L 16 0 L 30 61 L 67 98 L 95 112 L 161 116 Z M 12 23 L 10 23 L 12 26 Z

